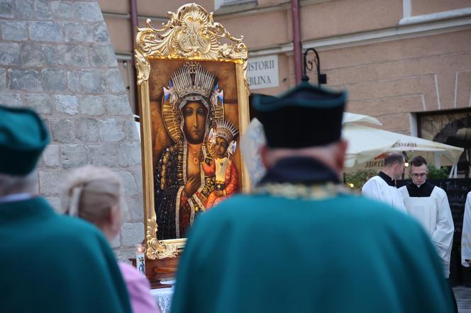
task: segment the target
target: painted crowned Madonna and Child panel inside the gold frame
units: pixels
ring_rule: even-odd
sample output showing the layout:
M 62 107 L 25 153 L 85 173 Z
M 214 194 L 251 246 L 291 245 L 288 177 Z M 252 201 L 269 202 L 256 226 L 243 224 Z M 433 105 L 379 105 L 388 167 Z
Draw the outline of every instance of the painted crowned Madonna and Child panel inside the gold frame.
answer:
M 155 216 L 159 239 L 241 189 L 232 62 L 150 60 Z

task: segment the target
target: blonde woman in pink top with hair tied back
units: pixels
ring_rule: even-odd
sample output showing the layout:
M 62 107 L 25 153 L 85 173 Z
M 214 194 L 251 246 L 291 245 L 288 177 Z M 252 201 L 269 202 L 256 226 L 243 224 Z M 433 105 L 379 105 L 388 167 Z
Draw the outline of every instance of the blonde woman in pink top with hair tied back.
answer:
M 67 176 L 65 183 L 64 212 L 81 217 L 99 227 L 111 241 L 123 224 L 123 199 L 121 179 L 110 169 L 83 166 Z M 150 284 L 133 266 L 118 262 L 126 282 L 131 306 L 135 313 L 160 313 L 150 295 Z

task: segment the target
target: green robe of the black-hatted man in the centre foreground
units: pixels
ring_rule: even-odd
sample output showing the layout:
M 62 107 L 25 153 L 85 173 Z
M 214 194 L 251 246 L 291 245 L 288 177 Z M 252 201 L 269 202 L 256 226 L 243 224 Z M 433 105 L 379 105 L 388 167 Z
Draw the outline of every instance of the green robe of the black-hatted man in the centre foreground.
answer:
M 237 195 L 199 217 L 172 313 L 453 312 L 430 239 L 356 195 Z

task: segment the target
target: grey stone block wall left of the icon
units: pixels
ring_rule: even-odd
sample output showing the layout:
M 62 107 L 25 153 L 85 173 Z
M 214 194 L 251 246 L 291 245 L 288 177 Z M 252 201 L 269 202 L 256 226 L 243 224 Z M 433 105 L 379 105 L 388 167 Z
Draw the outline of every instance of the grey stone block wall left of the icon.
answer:
M 76 166 L 123 178 L 128 210 L 112 246 L 132 256 L 144 236 L 140 142 L 96 1 L 0 0 L 0 104 L 34 108 L 48 125 L 38 188 L 54 207 Z

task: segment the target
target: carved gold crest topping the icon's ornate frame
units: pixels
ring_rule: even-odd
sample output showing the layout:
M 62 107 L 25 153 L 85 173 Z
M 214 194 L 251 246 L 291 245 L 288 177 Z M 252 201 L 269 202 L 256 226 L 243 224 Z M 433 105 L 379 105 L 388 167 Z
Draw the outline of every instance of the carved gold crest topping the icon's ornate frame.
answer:
M 149 79 L 150 65 L 146 57 L 247 62 L 243 37 L 233 37 L 223 25 L 214 22 L 212 12 L 198 4 L 185 4 L 177 13 L 168 12 L 168 15 L 170 21 L 160 29 L 153 28 L 150 19 L 146 28 L 138 28 L 135 42 L 138 84 Z M 228 42 L 221 42 L 223 38 Z

